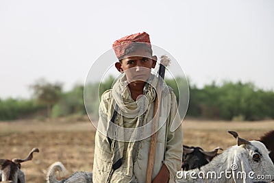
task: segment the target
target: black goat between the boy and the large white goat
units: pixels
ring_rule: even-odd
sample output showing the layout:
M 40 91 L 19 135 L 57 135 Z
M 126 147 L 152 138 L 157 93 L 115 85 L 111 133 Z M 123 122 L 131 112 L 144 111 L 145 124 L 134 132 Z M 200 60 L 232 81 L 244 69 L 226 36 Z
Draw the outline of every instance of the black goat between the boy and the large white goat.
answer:
M 208 164 L 217 155 L 218 150 L 223 149 L 216 147 L 212 151 L 204 151 L 201 147 L 183 145 L 182 169 L 187 171 Z

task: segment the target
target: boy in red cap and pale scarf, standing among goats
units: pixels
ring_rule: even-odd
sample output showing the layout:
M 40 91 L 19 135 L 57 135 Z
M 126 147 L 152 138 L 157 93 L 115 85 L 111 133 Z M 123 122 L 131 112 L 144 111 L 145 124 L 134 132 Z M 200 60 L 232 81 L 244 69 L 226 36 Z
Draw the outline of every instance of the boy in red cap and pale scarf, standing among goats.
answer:
M 158 80 L 151 69 L 157 57 L 152 54 L 149 34 L 145 32 L 116 40 L 113 49 L 119 59 L 115 67 L 122 75 L 101 97 L 93 182 L 145 182 Z M 182 127 L 171 132 L 171 124 L 179 124 L 181 119 L 175 94 L 166 85 L 159 108 L 152 180 L 175 182 L 182 162 Z

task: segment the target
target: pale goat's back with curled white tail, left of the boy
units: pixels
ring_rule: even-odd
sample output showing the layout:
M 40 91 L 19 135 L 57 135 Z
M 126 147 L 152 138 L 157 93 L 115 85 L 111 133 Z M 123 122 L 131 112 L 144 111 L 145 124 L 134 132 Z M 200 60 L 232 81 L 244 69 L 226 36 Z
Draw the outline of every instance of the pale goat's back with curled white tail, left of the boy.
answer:
M 51 164 L 49 171 L 47 172 L 47 183 L 92 183 L 92 172 L 77 171 L 69 178 L 58 181 L 56 180 L 55 171 L 59 171 L 62 176 L 66 173 L 66 168 L 62 162 L 54 162 Z

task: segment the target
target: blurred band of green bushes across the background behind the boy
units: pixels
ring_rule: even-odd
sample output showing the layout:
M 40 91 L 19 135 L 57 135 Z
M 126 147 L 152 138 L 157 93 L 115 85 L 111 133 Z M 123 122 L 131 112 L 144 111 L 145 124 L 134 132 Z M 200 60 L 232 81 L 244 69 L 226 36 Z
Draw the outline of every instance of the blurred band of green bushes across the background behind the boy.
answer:
M 173 88 L 178 106 L 188 101 L 188 83 L 182 77 L 166 79 Z M 35 99 L 0 99 L 0 120 L 12 120 L 22 117 L 34 117 L 39 111 L 52 107 L 51 117 L 64 117 L 71 114 L 92 114 L 98 117 L 99 99 L 105 90 L 111 88 L 114 77 L 110 76 L 101 84 L 95 82 L 85 86 L 75 86 L 68 92 L 62 92 L 61 84 L 49 84 L 44 81 L 32 86 Z M 256 88 L 252 83 L 215 82 L 203 88 L 190 84 L 190 101 L 187 115 L 206 119 L 225 120 L 262 120 L 274 119 L 274 92 Z M 84 92 L 86 107 L 84 106 Z M 87 111 L 86 111 L 87 110 Z M 185 111 L 180 110 L 180 114 Z

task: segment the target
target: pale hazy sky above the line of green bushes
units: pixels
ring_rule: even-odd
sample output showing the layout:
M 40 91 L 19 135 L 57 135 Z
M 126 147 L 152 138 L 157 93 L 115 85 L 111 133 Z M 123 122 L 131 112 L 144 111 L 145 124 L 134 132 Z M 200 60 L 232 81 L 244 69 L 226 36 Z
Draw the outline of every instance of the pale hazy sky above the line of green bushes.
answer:
M 44 77 L 69 90 L 114 40 L 136 32 L 169 51 L 197 86 L 274 89 L 274 1 L 0 1 L 0 98 Z

